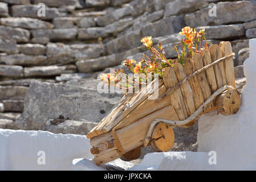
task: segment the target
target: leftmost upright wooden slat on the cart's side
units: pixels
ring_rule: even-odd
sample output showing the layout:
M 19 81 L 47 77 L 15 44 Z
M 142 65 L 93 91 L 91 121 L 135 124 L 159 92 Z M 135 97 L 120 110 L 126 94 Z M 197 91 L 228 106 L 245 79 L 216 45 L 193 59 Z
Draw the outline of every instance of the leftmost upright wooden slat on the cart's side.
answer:
M 163 80 L 166 88 L 172 88 L 178 83 L 178 80 L 173 68 L 170 68 L 170 67 L 164 68 Z M 181 89 L 178 88 L 173 93 L 171 93 L 169 97 L 170 97 L 170 102 L 178 115 L 178 118 L 180 118 L 180 120 L 184 120 L 188 118 L 188 114 L 186 113 L 186 107 L 181 94 Z

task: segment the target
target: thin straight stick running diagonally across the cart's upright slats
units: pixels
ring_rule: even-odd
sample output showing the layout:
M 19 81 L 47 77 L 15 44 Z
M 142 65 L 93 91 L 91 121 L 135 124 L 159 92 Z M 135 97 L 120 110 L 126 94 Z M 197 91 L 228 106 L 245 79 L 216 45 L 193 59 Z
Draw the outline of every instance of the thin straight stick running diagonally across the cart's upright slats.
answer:
M 188 77 L 184 78 L 184 80 L 182 80 L 181 82 L 178 82 L 178 84 L 176 84 L 176 85 L 173 86 L 172 88 L 169 88 L 168 90 L 166 90 L 166 92 L 165 92 L 164 94 L 162 94 L 161 96 L 159 96 L 159 97 L 157 98 L 157 102 L 161 101 L 161 100 L 162 100 L 163 98 L 165 98 L 166 96 L 169 96 L 170 93 L 172 93 L 172 92 L 173 92 L 174 90 L 176 90 L 177 88 L 180 88 L 180 86 L 181 86 L 182 84 L 184 84 L 184 82 L 188 81 L 190 78 L 192 78 L 192 77 L 194 77 L 194 76 L 196 76 L 196 75 L 198 75 L 198 74 L 204 72 L 206 69 L 212 67 L 213 65 L 219 63 L 220 61 L 225 60 L 225 59 L 227 59 L 227 58 L 229 58 L 229 57 L 232 57 L 232 56 L 234 56 L 234 55 L 235 55 L 235 53 L 231 53 L 230 55 L 227 55 L 227 56 L 225 56 L 225 57 L 221 57 L 221 59 L 218 59 L 218 60 L 214 61 L 212 64 L 208 64 L 208 65 L 206 65 L 205 67 L 203 67 L 203 68 L 201 68 L 201 69 L 198 69 L 198 71 L 192 73 L 192 74 L 189 75 Z

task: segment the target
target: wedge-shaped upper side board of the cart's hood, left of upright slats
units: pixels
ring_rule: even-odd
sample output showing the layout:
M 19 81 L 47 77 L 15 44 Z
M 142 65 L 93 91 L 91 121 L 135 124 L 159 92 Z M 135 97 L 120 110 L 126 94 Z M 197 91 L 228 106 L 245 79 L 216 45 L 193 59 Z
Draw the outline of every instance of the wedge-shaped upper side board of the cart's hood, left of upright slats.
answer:
M 159 87 L 159 95 L 166 91 L 165 85 L 161 85 Z M 161 109 L 162 107 L 170 105 L 170 98 L 165 97 L 160 102 L 157 102 L 155 99 L 151 99 L 155 97 L 153 94 L 149 96 L 145 101 L 143 101 L 139 106 L 137 106 L 130 114 L 128 114 L 121 122 L 119 122 L 114 129 L 120 129 L 121 127 L 130 125 L 131 123 L 137 121 L 138 119 L 153 113 L 156 110 Z

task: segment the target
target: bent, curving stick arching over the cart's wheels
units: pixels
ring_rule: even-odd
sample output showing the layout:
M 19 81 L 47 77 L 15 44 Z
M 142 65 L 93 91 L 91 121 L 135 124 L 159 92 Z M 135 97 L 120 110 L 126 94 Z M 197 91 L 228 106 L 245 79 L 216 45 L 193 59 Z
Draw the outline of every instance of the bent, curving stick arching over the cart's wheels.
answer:
M 151 126 L 149 127 L 148 133 L 147 133 L 147 135 L 145 137 L 145 140 L 144 140 L 144 146 L 148 146 L 148 142 L 151 139 L 153 129 L 155 128 L 157 123 L 164 122 L 164 123 L 169 124 L 170 126 L 186 125 L 187 123 L 189 123 L 193 119 L 196 119 L 196 117 L 202 113 L 202 111 L 204 110 L 204 107 L 206 105 L 208 105 L 210 102 L 212 102 L 219 94 L 221 94 L 222 92 L 224 92 L 227 89 L 234 89 L 234 88 L 232 86 L 229 86 L 229 85 L 222 86 L 220 89 L 218 89 L 216 92 L 214 92 L 212 94 L 212 96 L 210 96 L 208 98 L 208 100 L 206 100 L 204 102 L 204 104 L 202 104 L 192 115 L 190 115 L 190 117 L 184 119 L 183 121 L 169 121 L 169 120 L 165 120 L 165 119 L 155 119 L 151 123 Z

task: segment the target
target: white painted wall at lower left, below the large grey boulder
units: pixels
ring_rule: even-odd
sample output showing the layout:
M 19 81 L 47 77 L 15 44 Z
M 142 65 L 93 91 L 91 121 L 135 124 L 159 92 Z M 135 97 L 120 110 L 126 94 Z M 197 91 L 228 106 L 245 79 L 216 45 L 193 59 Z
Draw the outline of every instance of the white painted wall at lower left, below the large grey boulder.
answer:
M 38 164 L 38 151 L 46 164 Z M 92 159 L 86 136 L 0 129 L 0 170 L 70 170 L 75 158 Z

